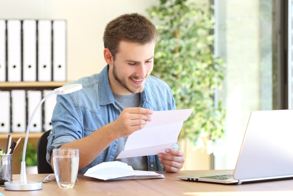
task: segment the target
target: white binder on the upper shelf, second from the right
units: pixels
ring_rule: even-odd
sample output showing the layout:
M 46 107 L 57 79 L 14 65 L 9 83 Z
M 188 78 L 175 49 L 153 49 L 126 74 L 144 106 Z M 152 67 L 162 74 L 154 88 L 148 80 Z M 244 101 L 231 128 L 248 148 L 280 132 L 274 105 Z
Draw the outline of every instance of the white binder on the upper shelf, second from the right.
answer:
M 38 20 L 38 81 L 52 81 L 52 22 Z

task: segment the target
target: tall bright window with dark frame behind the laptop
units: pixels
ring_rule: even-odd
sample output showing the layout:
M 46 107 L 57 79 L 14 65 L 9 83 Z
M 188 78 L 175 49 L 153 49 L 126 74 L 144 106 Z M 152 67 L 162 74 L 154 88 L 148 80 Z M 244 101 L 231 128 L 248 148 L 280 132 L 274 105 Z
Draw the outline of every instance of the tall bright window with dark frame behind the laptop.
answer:
M 275 0 L 214 0 L 214 6 L 215 53 L 226 64 L 217 97 L 226 107 L 227 130 L 215 148 L 214 168 L 233 169 L 251 111 L 287 108 L 286 5 Z

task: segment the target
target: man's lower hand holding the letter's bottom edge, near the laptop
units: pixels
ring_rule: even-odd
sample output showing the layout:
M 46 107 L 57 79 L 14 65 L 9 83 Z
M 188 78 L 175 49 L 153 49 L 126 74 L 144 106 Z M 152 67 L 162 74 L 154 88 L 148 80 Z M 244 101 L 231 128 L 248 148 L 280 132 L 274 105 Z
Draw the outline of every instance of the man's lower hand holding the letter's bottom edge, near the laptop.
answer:
M 166 153 L 168 154 L 159 153 L 159 161 L 163 163 L 167 172 L 177 173 L 185 162 L 183 151 L 168 148 Z

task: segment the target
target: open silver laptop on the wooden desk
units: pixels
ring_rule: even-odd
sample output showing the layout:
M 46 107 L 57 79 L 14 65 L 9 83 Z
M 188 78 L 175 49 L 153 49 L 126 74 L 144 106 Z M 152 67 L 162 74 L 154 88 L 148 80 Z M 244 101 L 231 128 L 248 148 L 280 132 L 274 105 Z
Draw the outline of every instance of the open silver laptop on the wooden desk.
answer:
M 251 112 L 234 170 L 177 178 L 221 184 L 293 179 L 293 110 Z

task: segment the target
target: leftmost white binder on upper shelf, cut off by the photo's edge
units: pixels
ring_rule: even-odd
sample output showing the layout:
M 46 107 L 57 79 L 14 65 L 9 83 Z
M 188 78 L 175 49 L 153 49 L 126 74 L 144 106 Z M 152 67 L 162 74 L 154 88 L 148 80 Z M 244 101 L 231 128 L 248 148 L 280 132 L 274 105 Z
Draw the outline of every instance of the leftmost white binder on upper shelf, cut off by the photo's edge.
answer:
M 6 81 L 6 22 L 5 20 L 0 20 L 0 82 Z

